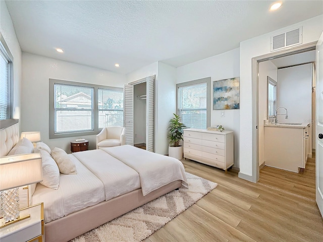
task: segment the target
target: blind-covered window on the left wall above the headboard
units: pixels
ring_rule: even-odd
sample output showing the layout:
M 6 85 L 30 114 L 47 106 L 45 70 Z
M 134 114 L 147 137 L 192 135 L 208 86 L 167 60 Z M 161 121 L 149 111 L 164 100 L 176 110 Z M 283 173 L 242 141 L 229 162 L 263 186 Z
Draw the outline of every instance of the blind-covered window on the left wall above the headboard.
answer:
M 12 118 L 13 57 L 0 34 L 0 120 Z

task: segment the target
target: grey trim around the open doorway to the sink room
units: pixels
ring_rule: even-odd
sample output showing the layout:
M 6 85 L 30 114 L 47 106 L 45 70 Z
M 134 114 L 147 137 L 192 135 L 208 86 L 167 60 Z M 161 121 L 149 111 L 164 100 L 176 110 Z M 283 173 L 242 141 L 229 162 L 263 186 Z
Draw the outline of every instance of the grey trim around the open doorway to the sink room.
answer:
M 257 183 L 259 180 L 259 114 L 258 114 L 258 101 L 259 101 L 259 90 L 258 90 L 258 74 L 259 74 L 259 63 L 269 61 L 292 54 L 298 54 L 314 50 L 316 48 L 317 41 L 313 41 L 307 44 L 301 44 L 296 47 L 286 48 L 278 50 L 272 53 L 267 53 L 251 58 L 251 91 L 252 91 L 252 176 L 248 177 L 247 180 Z

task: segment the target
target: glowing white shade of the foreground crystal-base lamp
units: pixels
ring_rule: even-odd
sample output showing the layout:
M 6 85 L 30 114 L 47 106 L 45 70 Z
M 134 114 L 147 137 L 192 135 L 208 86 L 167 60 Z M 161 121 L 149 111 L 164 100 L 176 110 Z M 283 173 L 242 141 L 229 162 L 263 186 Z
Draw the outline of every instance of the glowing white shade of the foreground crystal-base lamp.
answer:
M 42 181 L 40 154 L 12 155 L 0 158 L 0 191 Z

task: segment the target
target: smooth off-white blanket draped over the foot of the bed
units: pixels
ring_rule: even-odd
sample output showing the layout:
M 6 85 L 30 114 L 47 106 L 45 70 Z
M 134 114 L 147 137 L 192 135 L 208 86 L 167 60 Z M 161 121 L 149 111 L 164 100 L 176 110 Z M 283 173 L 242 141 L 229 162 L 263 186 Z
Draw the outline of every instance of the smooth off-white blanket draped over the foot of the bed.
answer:
M 130 145 L 102 150 L 139 173 L 143 196 L 175 180 L 182 180 L 183 186 L 188 187 L 184 165 L 178 159 L 147 152 Z

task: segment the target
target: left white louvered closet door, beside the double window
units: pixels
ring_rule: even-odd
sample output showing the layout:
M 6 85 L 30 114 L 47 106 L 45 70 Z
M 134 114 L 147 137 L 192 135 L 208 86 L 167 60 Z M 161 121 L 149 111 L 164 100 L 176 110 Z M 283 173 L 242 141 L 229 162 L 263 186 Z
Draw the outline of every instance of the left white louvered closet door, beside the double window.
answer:
M 125 113 L 125 139 L 126 145 L 133 146 L 133 120 L 134 120 L 134 113 L 133 113 L 133 85 L 125 85 L 124 89 L 124 113 Z

